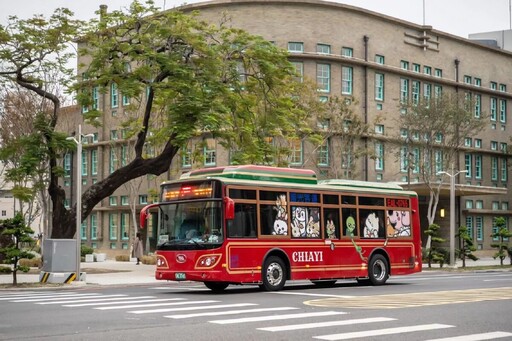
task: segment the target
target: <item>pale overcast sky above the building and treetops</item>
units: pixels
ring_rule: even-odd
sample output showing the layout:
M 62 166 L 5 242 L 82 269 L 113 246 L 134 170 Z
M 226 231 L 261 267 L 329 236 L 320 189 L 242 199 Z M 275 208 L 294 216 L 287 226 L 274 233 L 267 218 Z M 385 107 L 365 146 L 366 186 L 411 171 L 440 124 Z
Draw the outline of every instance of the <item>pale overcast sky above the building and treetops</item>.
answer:
M 154 0 L 160 8 L 172 8 L 184 2 L 204 0 Z M 512 0 L 331 0 L 362 7 L 415 24 L 467 38 L 470 33 L 500 31 L 511 28 Z M 97 17 L 101 4 L 110 10 L 126 8 L 131 0 L 0 0 L 0 23 L 9 15 L 29 18 L 34 14 L 49 16 L 54 9 L 66 7 L 79 19 Z M 425 11 L 423 11 L 425 5 Z M 425 20 L 424 20 L 425 19 Z

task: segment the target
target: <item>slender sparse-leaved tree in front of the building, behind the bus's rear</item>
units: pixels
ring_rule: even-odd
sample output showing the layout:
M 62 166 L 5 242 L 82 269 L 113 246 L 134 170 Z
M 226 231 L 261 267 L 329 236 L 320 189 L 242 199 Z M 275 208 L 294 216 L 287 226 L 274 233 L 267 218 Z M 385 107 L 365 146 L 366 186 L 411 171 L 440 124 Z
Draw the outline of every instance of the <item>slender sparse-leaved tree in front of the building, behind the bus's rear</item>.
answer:
M 447 167 L 457 167 L 459 150 L 464 139 L 478 133 L 486 124 L 486 116 L 471 100 L 471 96 L 443 93 L 436 98 L 403 101 L 397 122 L 398 158 L 401 170 L 417 173 L 429 189 L 426 212 L 429 225 L 433 224 L 443 185 L 438 174 Z M 430 247 L 430 238 L 427 248 Z

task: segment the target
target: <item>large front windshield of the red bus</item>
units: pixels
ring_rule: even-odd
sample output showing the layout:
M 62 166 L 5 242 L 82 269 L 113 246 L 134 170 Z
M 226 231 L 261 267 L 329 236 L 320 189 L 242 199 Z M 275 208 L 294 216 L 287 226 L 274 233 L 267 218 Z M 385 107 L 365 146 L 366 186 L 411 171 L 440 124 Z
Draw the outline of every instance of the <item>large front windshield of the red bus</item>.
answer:
M 204 200 L 160 206 L 158 250 L 196 250 L 219 247 L 223 240 L 222 202 Z

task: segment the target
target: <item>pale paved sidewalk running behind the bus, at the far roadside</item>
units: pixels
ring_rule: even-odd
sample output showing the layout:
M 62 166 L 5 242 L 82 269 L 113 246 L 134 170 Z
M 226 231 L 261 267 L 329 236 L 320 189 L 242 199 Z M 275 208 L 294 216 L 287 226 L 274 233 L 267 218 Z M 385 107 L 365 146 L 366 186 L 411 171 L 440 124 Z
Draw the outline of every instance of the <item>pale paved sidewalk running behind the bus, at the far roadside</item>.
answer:
M 505 265 L 510 264 L 507 257 L 504 261 Z M 466 267 L 500 265 L 499 259 L 492 257 L 482 257 L 477 261 L 466 260 Z M 460 268 L 462 262 L 457 261 Z M 449 267 L 449 265 L 445 265 Z M 423 264 L 426 269 L 427 265 Z M 439 268 L 439 265 L 433 265 L 432 269 Z M 75 281 L 65 286 L 84 286 L 84 285 L 136 285 L 136 284 L 164 284 L 164 281 L 155 279 L 155 265 L 139 264 L 135 262 L 118 262 L 106 259 L 102 262 L 88 262 L 80 264 L 81 272 L 85 272 L 85 281 Z M 18 284 L 22 283 L 38 283 L 40 282 L 40 273 L 37 269 L 32 269 L 30 273 L 17 273 Z M 12 274 L 1 274 L 0 284 L 12 284 Z

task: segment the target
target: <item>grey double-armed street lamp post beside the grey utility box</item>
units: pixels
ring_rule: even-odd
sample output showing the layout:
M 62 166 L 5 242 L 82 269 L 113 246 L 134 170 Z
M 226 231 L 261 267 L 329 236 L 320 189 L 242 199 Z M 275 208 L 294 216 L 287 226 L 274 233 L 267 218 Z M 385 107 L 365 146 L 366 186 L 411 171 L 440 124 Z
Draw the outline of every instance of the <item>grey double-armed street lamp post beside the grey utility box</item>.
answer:
M 80 229 L 82 226 L 82 140 L 84 137 L 91 137 L 92 134 L 82 136 L 82 125 L 78 125 L 78 134 L 75 137 L 68 137 L 67 140 L 72 140 L 76 143 L 76 278 L 75 281 L 80 281 Z

